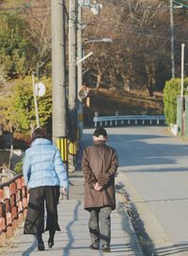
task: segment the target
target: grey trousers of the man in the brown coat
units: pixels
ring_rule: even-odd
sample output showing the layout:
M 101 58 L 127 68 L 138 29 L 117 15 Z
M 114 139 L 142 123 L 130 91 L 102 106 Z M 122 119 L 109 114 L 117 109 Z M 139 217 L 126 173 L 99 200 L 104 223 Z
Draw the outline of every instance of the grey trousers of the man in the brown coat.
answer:
M 90 217 L 88 221 L 88 228 L 90 232 L 91 244 L 98 248 L 101 240 L 102 247 L 106 246 L 109 248 L 111 240 L 110 215 L 112 213 L 112 208 L 109 206 L 104 206 L 102 208 L 91 208 L 89 212 Z M 99 225 L 99 222 L 101 225 Z

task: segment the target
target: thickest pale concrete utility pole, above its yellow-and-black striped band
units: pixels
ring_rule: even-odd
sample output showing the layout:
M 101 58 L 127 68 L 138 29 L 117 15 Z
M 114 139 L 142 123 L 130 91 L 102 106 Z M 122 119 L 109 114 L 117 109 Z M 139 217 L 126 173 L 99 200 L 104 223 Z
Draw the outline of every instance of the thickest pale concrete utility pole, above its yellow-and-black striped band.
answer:
M 51 0 L 52 72 L 53 72 L 53 140 L 67 136 L 65 3 Z

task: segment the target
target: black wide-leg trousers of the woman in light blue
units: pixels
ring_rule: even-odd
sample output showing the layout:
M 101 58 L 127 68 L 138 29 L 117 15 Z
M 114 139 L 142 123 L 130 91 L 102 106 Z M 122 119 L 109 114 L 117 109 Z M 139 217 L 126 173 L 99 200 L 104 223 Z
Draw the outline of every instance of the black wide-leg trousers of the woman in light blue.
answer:
M 44 204 L 47 220 L 45 231 L 60 231 L 57 218 L 59 186 L 39 186 L 29 190 L 27 215 L 24 233 L 39 234 L 44 232 Z

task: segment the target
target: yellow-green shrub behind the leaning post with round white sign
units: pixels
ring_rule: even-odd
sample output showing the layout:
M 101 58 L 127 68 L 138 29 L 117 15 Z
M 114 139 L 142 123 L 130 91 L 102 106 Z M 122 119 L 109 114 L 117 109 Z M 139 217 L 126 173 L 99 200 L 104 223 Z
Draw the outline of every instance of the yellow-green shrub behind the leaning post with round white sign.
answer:
M 40 82 L 45 85 L 46 92 L 42 97 L 38 97 L 39 123 L 41 127 L 45 127 L 51 124 L 52 80 L 51 78 L 41 77 Z M 11 95 L 0 101 L 0 114 L 17 132 L 29 134 L 31 127 L 36 127 L 31 76 L 16 80 Z

